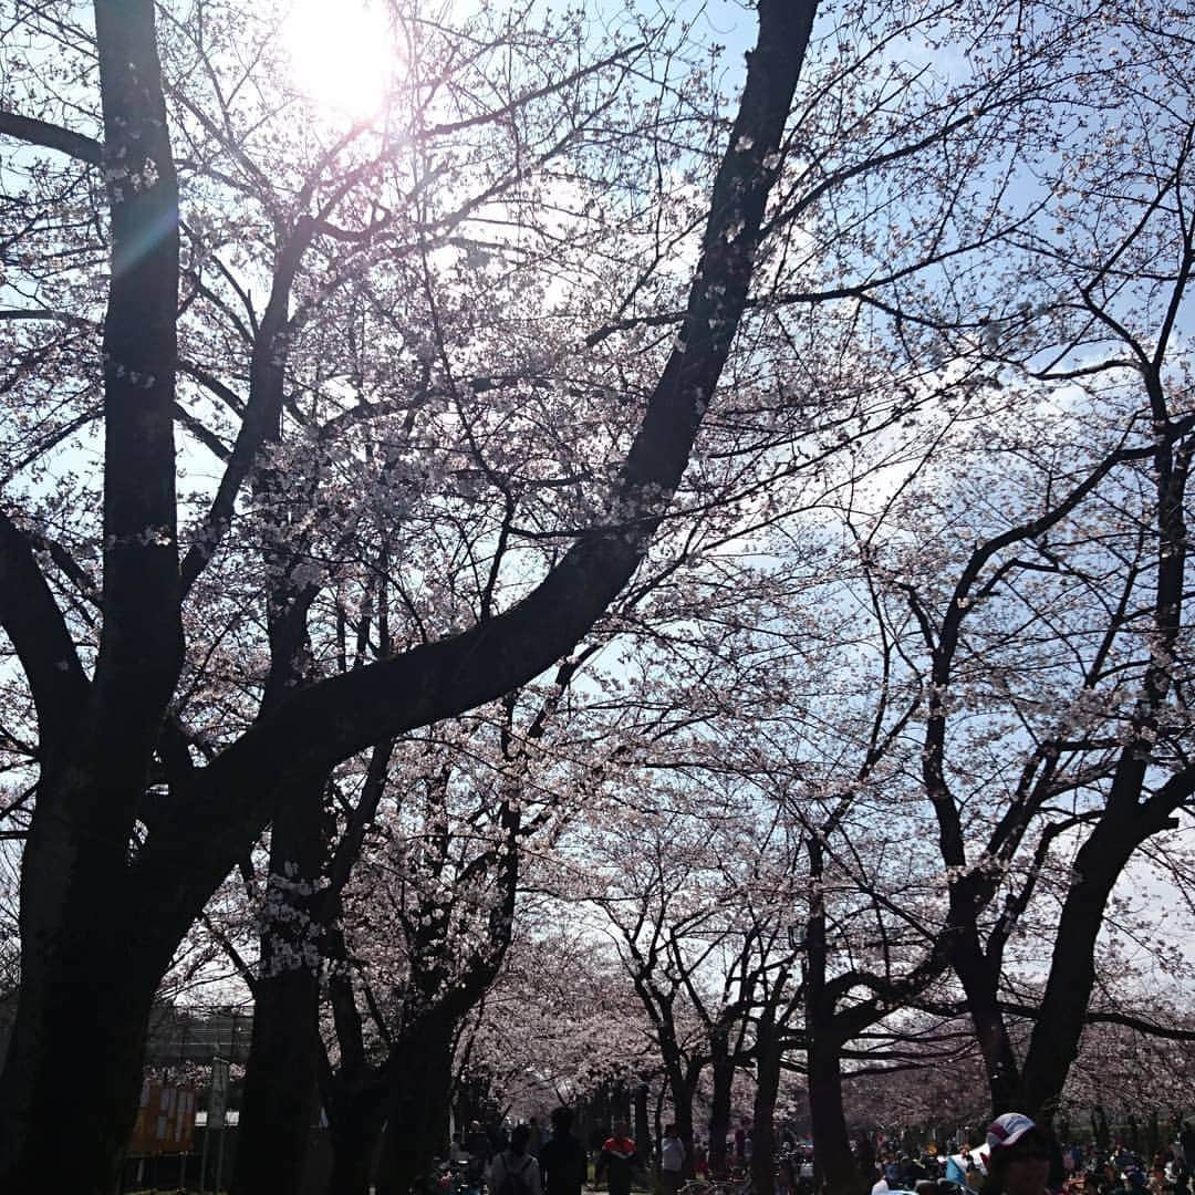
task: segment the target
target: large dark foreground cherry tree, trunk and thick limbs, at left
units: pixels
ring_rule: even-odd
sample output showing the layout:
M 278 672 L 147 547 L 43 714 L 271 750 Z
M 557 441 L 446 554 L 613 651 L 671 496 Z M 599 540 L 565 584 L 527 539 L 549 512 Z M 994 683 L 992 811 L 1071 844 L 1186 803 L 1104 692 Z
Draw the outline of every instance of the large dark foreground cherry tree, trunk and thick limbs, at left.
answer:
M 74 13 L 53 14 L 57 35 L 75 41 L 86 66 L 80 86 L 90 102 L 98 96 L 103 141 L 88 135 L 99 134 L 98 127 L 71 135 L 61 123 L 22 112 L 6 118 L 4 131 L 75 153 L 78 178 L 91 180 L 82 167 L 97 159 L 105 165 L 106 221 L 104 208 L 93 208 L 112 245 L 110 277 L 99 274 L 96 284 L 97 299 L 106 300 L 103 578 L 91 620 L 92 666 L 91 651 L 81 650 L 47 580 L 37 540 L 24 529 L 27 520 L 19 511 L 4 514 L 0 619 L 33 695 L 41 765 L 24 848 L 20 1004 L 0 1096 L 6 1124 L 0 1173 L 7 1185 L 32 1181 L 47 1134 L 55 1130 L 65 1073 L 79 1074 L 76 1093 L 92 1115 L 86 1139 L 63 1159 L 72 1169 L 62 1181 L 80 1191 L 110 1185 L 131 1121 L 143 1027 L 158 978 L 210 893 L 280 803 L 320 792 L 336 762 L 373 743 L 531 679 L 568 654 L 633 572 L 684 471 L 746 301 L 776 177 L 773 155 L 813 11 L 761 10 L 740 114 L 713 179 L 692 318 L 662 380 L 646 396 L 642 423 L 632 418 L 630 436 L 613 451 L 618 464 L 605 494 L 615 529 L 602 529 L 598 521 L 595 531 L 560 552 L 553 568 L 519 586 L 501 611 L 484 608 L 471 627 L 436 630 L 429 642 L 388 660 L 310 684 L 298 681 L 314 578 L 310 570 L 283 565 L 268 602 L 277 695 L 203 766 L 196 766 L 185 736 L 182 744 L 176 736 L 176 749 L 163 746 L 159 752 L 159 743 L 170 741 L 163 728 L 171 725 L 167 711 L 183 673 L 184 603 L 227 534 L 255 462 L 266 465 L 252 486 L 266 505 L 283 482 L 292 484 L 276 452 L 270 466 L 270 447 L 278 442 L 271 428 L 288 390 L 288 315 L 296 300 L 301 306 L 289 290 L 294 258 L 317 231 L 337 241 L 336 229 L 324 226 L 335 219 L 354 172 L 330 190 L 319 176 L 300 185 L 272 221 L 283 234 L 275 246 L 276 286 L 259 317 L 246 311 L 241 320 L 250 320 L 255 343 L 246 362 L 249 394 L 235 400 L 223 396 L 226 407 L 240 407 L 235 442 L 209 517 L 180 558 L 174 443 L 180 155 L 163 81 L 160 47 L 167 38 L 165 32 L 159 38 L 159 22 L 147 4 L 98 2 L 93 42 L 86 26 L 72 24 Z M 63 31 L 66 25 L 71 27 Z M 430 62 L 425 68 L 436 71 Z M 478 122 L 497 118 L 495 105 L 484 116 L 471 111 L 472 96 L 465 90 L 454 97 L 441 93 L 442 108 L 429 109 L 435 82 L 424 79 L 427 103 L 410 129 L 416 143 L 436 128 L 441 111 L 446 136 L 453 129 L 467 136 Z M 526 85 L 516 86 L 522 94 Z M 551 90 L 559 92 L 558 82 Z M 197 106 L 197 125 L 214 125 L 217 140 L 229 137 L 219 111 Z M 93 118 L 96 108 L 87 111 Z M 570 125 L 557 139 L 575 133 Z M 513 140 L 521 160 L 526 151 L 517 135 Z M 235 146 L 226 149 L 238 172 L 253 173 L 246 154 Z M 368 177 L 369 166 L 362 163 L 360 173 Z M 418 201 L 416 182 L 404 206 Z M 366 239 L 376 216 L 376 209 L 370 215 L 364 206 L 356 229 L 349 226 L 349 241 Z M 325 274 L 326 286 L 335 290 L 339 277 L 333 266 Z M 245 290 L 244 298 L 250 294 Z M 609 521 L 607 515 L 607 528 Z M 305 546 L 301 531 L 289 540 L 284 559 L 287 547 Z M 148 788 L 155 756 L 170 761 L 165 796 Z M 139 823 L 146 828 L 140 839 Z M 130 850 L 130 844 L 136 845 Z M 103 1043 L 100 1056 L 97 1042 Z M 88 1066 L 76 1072 L 80 1058 L 88 1058 Z M 84 1076 L 90 1078 L 84 1081 Z

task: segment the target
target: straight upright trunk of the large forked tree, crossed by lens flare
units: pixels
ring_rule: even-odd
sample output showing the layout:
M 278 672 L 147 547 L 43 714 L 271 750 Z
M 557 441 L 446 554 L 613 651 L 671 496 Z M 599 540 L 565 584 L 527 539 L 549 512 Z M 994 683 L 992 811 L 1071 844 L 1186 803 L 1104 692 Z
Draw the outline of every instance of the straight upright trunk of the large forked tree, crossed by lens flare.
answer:
M 146 932 L 125 860 L 183 652 L 173 439 L 178 184 L 154 10 L 149 0 L 97 0 L 94 11 L 112 270 L 104 623 L 85 700 L 63 705 L 84 697 L 73 649 L 53 663 L 38 658 L 66 636 L 53 599 L 47 605 L 35 592 L 23 603 L 36 635 L 20 619 L 5 624 L 26 667 L 62 672 L 61 684 L 31 678 L 39 723 L 73 725 L 67 749 L 42 773 L 22 868 L 22 988 L 0 1084 L 0 1189 L 36 1189 L 54 1158 L 56 1182 L 79 1195 L 108 1195 L 114 1184 L 136 1110 L 146 1019 L 170 957 Z M 0 550 L 12 547 L 5 539 Z M 18 553 L 4 571 L 20 564 Z M 51 735 L 43 750 L 57 746 Z M 63 1089 L 88 1109 L 69 1150 L 61 1147 Z

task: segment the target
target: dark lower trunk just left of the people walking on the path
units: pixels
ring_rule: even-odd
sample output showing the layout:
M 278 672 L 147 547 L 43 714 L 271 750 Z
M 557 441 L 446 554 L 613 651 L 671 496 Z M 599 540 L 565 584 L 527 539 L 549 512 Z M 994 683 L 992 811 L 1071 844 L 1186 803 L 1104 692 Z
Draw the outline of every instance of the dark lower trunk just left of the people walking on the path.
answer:
M 410 1195 L 421 1187 L 448 1138 L 454 1024 L 431 1013 L 412 1021 L 392 1052 L 378 1195 Z

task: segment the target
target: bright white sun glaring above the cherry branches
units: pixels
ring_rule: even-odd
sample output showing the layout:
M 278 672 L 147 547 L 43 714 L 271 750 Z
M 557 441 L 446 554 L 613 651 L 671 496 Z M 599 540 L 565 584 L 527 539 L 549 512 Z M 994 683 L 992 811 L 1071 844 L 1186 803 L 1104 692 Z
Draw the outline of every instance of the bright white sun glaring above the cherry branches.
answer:
M 294 84 L 324 111 L 368 120 L 394 71 L 384 6 L 370 0 L 294 0 L 282 24 Z

